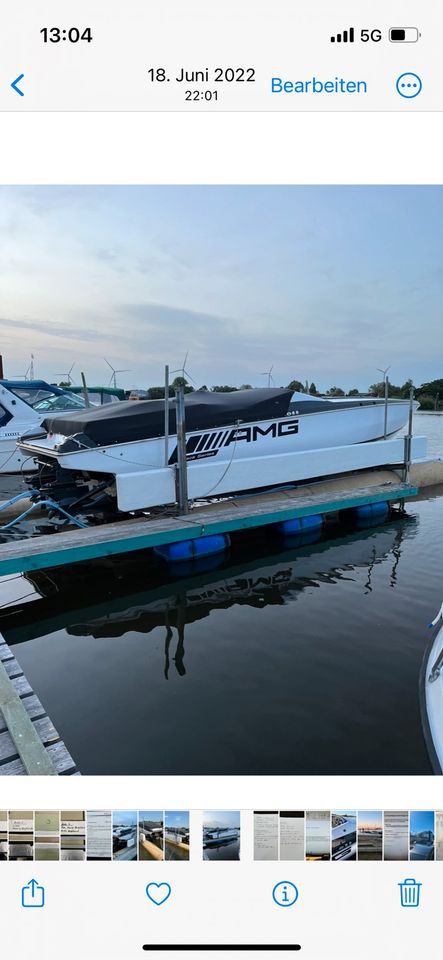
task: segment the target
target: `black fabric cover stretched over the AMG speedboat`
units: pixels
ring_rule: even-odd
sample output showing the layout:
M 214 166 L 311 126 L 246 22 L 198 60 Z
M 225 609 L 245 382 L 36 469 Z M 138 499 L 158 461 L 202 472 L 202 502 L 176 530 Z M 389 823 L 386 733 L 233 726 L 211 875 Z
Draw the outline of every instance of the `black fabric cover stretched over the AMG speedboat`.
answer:
M 266 388 L 232 393 L 195 390 L 185 396 L 186 431 L 284 417 L 291 396 L 292 390 Z M 147 440 L 164 436 L 165 404 L 164 400 L 123 400 L 63 417 L 46 417 L 42 426 L 47 433 L 61 433 L 65 437 L 83 434 L 100 447 Z M 174 400 L 169 401 L 169 432 L 171 435 L 176 432 Z

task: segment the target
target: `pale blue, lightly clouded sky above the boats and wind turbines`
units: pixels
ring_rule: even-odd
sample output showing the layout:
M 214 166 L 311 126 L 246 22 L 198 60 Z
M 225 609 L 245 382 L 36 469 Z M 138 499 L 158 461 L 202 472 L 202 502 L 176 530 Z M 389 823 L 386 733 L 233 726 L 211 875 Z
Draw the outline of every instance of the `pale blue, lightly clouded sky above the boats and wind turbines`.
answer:
M 0 187 L 5 375 L 443 376 L 443 187 Z

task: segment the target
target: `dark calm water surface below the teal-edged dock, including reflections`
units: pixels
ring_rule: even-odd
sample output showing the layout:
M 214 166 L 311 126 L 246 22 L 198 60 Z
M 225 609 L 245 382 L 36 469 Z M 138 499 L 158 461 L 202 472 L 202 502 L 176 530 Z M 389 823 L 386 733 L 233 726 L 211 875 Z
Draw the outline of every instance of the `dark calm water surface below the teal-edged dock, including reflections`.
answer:
M 138 554 L 4 578 L 0 630 L 84 774 L 431 773 L 434 493 L 381 527 L 262 534 L 180 576 Z

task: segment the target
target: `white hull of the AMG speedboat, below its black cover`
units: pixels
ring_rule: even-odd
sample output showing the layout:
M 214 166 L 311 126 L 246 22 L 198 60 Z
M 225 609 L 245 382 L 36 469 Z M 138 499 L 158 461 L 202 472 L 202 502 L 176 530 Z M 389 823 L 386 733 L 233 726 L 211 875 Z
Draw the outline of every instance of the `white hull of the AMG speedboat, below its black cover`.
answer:
M 296 405 L 295 405 L 296 407 Z M 390 401 L 387 433 L 395 434 L 406 423 L 408 401 Z M 380 452 L 358 452 L 357 445 L 377 440 L 384 431 L 384 404 L 353 404 L 346 408 L 331 405 L 321 412 L 289 416 L 278 420 L 231 425 L 187 434 L 188 492 L 190 499 L 223 496 L 228 493 L 290 483 L 347 469 L 363 469 L 402 459 L 403 441 L 386 441 L 385 459 Z M 108 446 L 59 448 L 66 441 L 59 434 L 26 442 L 25 455 L 46 462 L 56 461 L 62 469 L 95 479 L 115 478 L 118 508 L 142 510 L 176 500 L 176 437 L 169 439 L 165 466 L 163 437 L 117 443 Z M 74 440 L 75 444 L 75 440 Z M 394 444 L 394 446 L 390 446 Z M 71 444 L 73 446 L 73 444 Z M 332 468 L 340 448 L 341 467 Z M 306 456 L 309 451 L 309 458 Z M 425 448 L 416 445 L 415 456 Z

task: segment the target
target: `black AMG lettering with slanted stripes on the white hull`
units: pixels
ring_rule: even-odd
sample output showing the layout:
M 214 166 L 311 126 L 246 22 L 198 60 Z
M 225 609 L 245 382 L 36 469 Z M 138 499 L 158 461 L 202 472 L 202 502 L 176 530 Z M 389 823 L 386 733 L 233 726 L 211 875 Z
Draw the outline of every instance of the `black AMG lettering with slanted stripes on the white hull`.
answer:
M 299 421 L 291 418 L 291 420 L 270 423 L 268 427 L 260 427 L 255 423 L 252 426 L 215 430 L 213 433 L 193 434 L 188 437 L 186 443 L 186 459 L 191 461 L 215 457 L 222 447 L 230 447 L 232 444 L 241 442 L 255 443 L 261 437 L 268 437 L 270 440 L 290 437 L 298 433 L 298 425 Z M 171 465 L 177 463 L 177 447 L 173 450 L 169 463 Z

